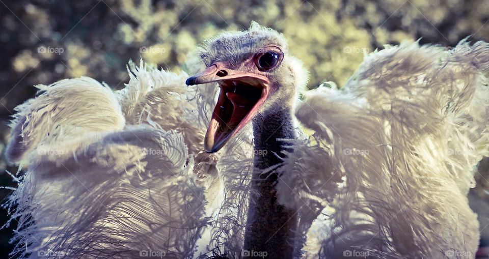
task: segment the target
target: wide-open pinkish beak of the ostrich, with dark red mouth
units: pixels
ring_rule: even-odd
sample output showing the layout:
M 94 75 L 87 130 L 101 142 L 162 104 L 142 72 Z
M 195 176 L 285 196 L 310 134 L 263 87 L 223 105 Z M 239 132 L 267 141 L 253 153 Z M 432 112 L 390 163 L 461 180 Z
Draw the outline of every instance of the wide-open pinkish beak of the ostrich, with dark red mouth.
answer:
M 187 85 L 218 82 L 221 92 L 212 112 L 204 149 L 215 153 L 246 125 L 268 97 L 270 82 L 263 75 L 241 72 L 214 63 L 189 77 Z

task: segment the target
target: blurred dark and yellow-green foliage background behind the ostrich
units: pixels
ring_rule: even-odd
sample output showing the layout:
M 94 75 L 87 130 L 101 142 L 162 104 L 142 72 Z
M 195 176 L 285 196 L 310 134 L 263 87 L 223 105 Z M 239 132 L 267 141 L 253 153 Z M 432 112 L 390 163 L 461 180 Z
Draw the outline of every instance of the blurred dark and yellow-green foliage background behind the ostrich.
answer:
M 120 89 L 129 59 L 178 71 L 196 44 L 252 20 L 284 33 L 311 72 L 310 88 L 343 84 L 365 51 L 384 44 L 489 41 L 487 0 L 0 0 L 0 152 L 14 107 L 34 97 L 33 85 L 90 76 Z M 0 184 L 15 186 L 5 170 L 17 169 L 0 158 Z M 0 200 L 9 193 L 2 189 Z M 0 258 L 11 233 L 0 231 Z

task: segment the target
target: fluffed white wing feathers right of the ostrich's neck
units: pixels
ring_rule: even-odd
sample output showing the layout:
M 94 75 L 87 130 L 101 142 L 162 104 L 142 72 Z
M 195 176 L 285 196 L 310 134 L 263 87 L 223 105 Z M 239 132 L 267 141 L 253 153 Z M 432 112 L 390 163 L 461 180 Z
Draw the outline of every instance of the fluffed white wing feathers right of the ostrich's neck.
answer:
M 337 195 L 330 229 L 318 240 L 324 225 L 313 225 L 305 257 L 475 256 L 478 222 L 467 193 L 489 152 L 488 60 L 487 43 L 463 41 L 452 52 L 403 43 L 369 54 L 343 91 L 306 95 L 296 116 L 324 147 L 296 143 L 300 155 L 283 169 L 303 167 L 282 178 L 294 195 L 279 192 L 294 197 L 284 201 L 293 208 Z M 346 177 L 340 189 L 335 174 Z M 298 180 L 310 178 L 319 182 Z M 329 191 L 305 187 L 317 185 Z

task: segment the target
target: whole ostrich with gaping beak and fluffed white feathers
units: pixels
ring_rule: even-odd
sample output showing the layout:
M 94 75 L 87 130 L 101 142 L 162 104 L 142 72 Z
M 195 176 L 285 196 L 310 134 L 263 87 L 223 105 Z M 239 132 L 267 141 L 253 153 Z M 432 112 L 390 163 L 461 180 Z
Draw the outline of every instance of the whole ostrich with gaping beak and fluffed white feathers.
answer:
M 474 257 L 489 44 L 402 43 L 306 92 L 285 38 L 252 23 L 190 64 L 130 63 L 115 93 L 39 85 L 17 107 L 12 256 Z

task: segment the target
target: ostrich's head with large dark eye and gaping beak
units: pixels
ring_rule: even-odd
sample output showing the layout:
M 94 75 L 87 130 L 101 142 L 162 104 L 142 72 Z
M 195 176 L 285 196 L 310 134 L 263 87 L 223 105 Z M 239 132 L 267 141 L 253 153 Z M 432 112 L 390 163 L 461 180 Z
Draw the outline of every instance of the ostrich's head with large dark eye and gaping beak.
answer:
M 226 32 L 205 41 L 207 68 L 187 85 L 217 82 L 221 89 L 204 140 L 206 152 L 221 149 L 257 115 L 291 109 L 307 71 L 288 54 L 282 34 L 252 22 L 247 31 Z

